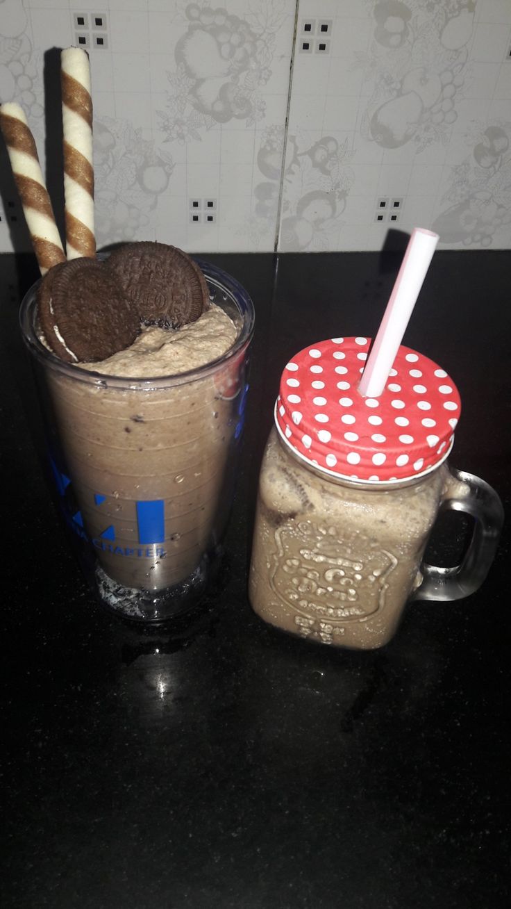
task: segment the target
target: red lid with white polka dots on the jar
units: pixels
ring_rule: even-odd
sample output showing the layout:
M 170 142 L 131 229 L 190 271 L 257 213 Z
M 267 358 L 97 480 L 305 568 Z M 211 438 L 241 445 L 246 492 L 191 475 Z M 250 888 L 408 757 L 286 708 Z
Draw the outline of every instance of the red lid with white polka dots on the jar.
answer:
M 280 435 L 310 464 L 371 483 L 424 474 L 444 460 L 460 414 L 456 385 L 399 347 L 378 398 L 359 394 L 370 339 L 332 338 L 293 356 L 280 379 Z

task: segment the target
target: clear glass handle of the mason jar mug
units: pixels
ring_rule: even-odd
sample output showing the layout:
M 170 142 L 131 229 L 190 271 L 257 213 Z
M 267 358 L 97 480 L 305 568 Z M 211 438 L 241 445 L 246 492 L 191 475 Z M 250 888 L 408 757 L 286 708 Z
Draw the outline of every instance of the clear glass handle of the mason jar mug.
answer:
M 495 489 L 474 474 L 450 468 L 447 494 L 440 511 L 470 514 L 474 529 L 461 564 L 451 568 L 423 563 L 423 581 L 411 600 L 459 600 L 473 594 L 483 583 L 496 554 L 504 523 L 504 508 Z

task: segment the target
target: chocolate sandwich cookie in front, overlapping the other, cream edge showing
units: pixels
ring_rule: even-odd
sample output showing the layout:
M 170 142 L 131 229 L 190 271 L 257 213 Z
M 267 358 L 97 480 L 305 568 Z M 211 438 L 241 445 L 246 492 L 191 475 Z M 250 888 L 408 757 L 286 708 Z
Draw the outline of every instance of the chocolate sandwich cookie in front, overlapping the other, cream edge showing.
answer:
M 67 363 L 93 363 L 125 350 L 140 319 L 107 265 L 73 259 L 54 265 L 37 293 L 48 345 Z

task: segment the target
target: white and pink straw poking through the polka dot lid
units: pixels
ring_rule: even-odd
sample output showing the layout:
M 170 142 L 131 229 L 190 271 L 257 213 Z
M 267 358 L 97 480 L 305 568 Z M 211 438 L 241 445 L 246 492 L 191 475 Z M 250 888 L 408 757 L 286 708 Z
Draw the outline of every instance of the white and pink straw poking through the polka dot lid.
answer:
M 410 236 L 378 335 L 360 379 L 359 392 L 364 397 L 379 397 L 385 388 L 437 242 L 438 235 L 423 227 L 415 227 Z

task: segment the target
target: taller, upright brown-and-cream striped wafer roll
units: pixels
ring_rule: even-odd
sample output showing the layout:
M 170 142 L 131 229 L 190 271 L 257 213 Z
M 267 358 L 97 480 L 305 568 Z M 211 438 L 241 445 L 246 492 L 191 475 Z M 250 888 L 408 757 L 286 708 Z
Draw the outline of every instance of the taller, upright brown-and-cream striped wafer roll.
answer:
M 95 255 L 93 100 L 89 57 L 81 47 L 61 54 L 67 258 Z

